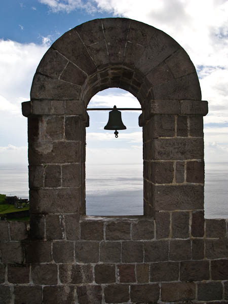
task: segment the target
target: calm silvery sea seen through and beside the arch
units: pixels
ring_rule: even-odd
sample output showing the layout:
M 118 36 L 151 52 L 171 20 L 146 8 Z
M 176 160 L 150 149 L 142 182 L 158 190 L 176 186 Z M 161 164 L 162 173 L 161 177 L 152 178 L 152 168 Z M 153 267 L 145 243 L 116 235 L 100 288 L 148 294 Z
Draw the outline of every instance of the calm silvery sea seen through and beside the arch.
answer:
M 142 214 L 141 164 L 90 165 L 86 174 L 88 215 Z M 0 165 L 0 193 L 28 198 L 27 167 Z M 228 218 L 228 163 L 205 165 L 205 216 Z

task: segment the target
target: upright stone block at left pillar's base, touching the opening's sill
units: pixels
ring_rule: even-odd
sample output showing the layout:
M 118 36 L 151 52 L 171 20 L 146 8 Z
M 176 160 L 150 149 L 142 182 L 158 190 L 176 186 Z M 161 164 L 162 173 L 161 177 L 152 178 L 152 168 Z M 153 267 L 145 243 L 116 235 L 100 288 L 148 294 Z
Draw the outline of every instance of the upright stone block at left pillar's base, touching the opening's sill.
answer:
M 80 219 L 79 214 L 64 215 L 65 233 L 67 240 L 79 240 Z

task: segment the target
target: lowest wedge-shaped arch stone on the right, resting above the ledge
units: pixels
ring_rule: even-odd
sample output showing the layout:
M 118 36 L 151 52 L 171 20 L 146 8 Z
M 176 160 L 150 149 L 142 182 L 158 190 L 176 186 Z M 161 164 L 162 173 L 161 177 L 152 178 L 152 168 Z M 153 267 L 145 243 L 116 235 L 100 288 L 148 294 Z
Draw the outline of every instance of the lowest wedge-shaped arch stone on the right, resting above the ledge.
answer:
M 153 92 L 155 99 L 201 100 L 201 90 L 196 72 L 154 86 Z M 182 107 L 180 113 L 188 114 L 188 110 Z

